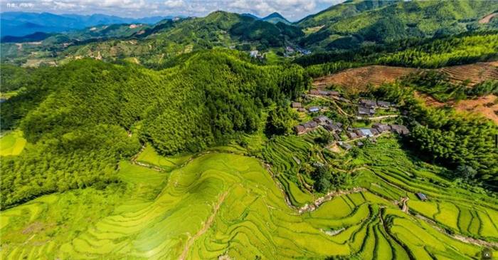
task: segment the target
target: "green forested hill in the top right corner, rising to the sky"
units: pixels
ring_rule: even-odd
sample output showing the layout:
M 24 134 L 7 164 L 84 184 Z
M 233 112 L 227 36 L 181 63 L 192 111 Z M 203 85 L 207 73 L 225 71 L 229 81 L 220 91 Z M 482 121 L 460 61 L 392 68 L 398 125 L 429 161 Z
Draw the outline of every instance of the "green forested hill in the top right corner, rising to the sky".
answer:
M 498 27 L 496 19 L 489 24 L 479 22 L 497 11 L 498 1 L 383 2 L 346 2 L 309 16 L 298 24 L 310 32 L 300 42 L 322 50 L 354 48 L 366 42 L 386 43 Z M 316 26 L 320 27 L 311 29 Z

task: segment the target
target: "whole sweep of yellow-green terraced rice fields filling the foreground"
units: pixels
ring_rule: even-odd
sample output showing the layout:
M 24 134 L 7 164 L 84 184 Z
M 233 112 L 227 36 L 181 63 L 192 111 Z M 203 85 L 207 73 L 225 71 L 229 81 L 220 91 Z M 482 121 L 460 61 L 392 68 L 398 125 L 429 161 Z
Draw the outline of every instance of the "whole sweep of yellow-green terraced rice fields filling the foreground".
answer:
M 305 159 L 307 143 L 279 139 L 272 146 L 279 148 L 267 152 L 292 152 Z M 290 150 L 285 144 L 297 147 Z M 52 194 L 1 212 L 1 259 L 478 257 L 482 246 L 453 239 L 402 212 L 393 199 L 408 196 L 410 211 L 435 215 L 437 222 L 456 223 L 462 234 L 477 232 L 472 234 L 489 240 L 496 238 L 496 229 L 489 229 L 498 217 L 496 201 L 456 189 L 452 203 L 448 196 L 455 194 L 449 188 L 427 182 L 431 178 L 445 184 L 427 170 L 437 169 L 409 165 L 396 144 L 380 140 L 382 148 L 394 152 L 371 156 L 375 163 L 359 171 L 359 182 L 369 190 L 332 197 L 318 209 L 302 213 L 286 204 L 282 189 L 254 158 L 211 152 L 171 172 L 122 162 L 121 184 Z M 148 156 L 139 157 L 155 158 L 158 164 L 171 161 L 147 152 Z M 367 147 L 366 152 L 377 151 Z M 292 165 L 281 170 L 292 171 Z M 414 167 L 415 172 L 405 172 L 405 167 Z M 430 202 L 412 204 L 413 190 L 429 194 Z M 456 215 L 457 222 L 443 217 L 452 210 L 463 212 Z

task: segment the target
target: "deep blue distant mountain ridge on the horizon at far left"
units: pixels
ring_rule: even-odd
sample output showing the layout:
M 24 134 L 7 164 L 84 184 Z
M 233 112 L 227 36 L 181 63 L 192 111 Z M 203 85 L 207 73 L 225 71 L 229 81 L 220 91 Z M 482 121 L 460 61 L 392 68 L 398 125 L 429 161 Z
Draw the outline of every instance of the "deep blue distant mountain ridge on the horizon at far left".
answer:
M 89 26 L 110 24 L 156 24 L 163 19 L 172 19 L 172 16 L 154 16 L 140 19 L 92 14 L 82 16 L 78 14 L 50 14 L 5 12 L 1 13 L 1 36 L 26 36 L 31 33 L 57 33 L 74 31 Z

